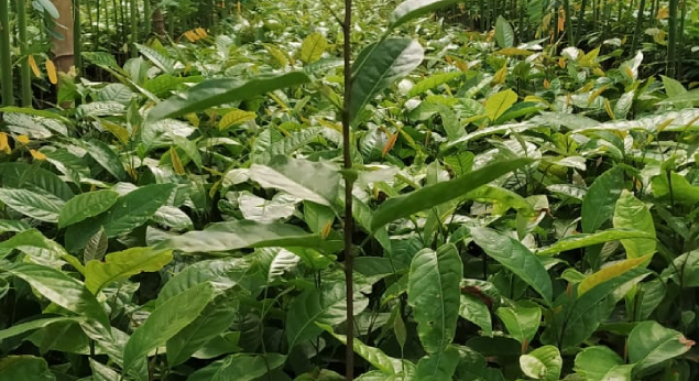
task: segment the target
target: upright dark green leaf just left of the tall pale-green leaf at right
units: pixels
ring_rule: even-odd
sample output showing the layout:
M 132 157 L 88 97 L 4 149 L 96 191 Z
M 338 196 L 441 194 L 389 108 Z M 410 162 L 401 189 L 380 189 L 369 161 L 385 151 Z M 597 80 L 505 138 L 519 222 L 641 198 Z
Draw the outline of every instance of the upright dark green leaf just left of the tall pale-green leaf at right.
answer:
M 598 176 L 582 198 L 582 232 L 596 232 L 614 215 L 614 206 L 624 188 L 621 167 L 613 167 Z

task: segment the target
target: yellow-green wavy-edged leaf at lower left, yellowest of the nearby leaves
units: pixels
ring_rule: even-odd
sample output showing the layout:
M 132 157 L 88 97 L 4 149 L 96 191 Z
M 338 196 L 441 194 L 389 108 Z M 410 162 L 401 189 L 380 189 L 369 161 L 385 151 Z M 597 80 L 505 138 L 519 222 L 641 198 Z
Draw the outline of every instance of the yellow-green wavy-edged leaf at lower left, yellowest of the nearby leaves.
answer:
M 97 294 L 110 283 L 141 272 L 161 270 L 173 259 L 172 250 L 131 248 L 105 257 L 105 261 L 89 261 L 85 265 L 85 285 Z

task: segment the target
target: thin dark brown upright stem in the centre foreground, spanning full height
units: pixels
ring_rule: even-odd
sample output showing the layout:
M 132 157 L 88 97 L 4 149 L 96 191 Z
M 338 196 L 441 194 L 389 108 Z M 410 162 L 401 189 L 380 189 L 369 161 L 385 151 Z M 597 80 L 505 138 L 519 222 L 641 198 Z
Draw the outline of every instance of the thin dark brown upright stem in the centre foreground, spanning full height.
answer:
M 345 21 L 342 34 L 345 36 L 345 102 L 342 107 L 342 159 L 345 170 L 352 168 L 352 153 L 350 139 L 350 102 L 352 97 L 352 66 L 351 66 L 351 37 L 352 30 L 352 0 L 345 0 Z M 347 348 L 345 353 L 346 373 L 348 381 L 354 379 L 354 253 L 352 251 L 352 183 L 349 173 L 345 174 L 345 286 L 347 298 Z

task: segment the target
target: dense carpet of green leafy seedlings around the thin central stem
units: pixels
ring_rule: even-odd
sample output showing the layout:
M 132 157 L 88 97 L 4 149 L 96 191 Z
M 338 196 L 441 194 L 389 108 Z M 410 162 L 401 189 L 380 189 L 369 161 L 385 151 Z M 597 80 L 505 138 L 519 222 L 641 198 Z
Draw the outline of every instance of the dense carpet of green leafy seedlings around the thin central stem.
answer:
M 452 3 L 357 1 L 349 104 L 258 0 L 0 108 L 0 380 L 696 379 L 699 91 Z

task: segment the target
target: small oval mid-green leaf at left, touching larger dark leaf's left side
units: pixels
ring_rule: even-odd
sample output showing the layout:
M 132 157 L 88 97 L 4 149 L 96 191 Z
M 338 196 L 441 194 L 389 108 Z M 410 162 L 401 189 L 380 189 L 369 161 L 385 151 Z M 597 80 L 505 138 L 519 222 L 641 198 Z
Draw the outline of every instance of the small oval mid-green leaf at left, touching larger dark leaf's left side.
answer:
M 61 208 L 58 228 L 65 228 L 95 217 L 114 205 L 118 198 L 119 194 L 113 190 L 97 190 L 77 195 Z

